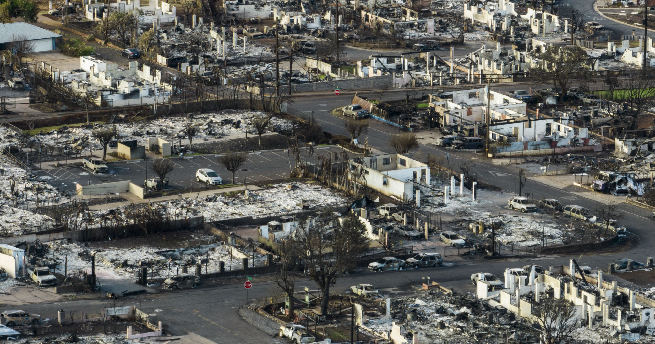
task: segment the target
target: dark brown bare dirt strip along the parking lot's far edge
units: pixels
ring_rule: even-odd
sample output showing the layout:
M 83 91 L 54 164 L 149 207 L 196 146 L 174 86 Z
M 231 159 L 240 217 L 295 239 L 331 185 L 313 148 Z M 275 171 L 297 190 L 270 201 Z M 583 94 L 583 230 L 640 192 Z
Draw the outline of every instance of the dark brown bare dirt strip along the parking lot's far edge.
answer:
M 269 149 L 286 149 L 289 145 L 286 137 L 282 135 L 267 135 L 259 138 L 249 136 L 248 138 L 236 138 L 232 140 L 223 140 L 217 142 L 193 143 L 193 151 L 203 154 L 225 153 L 225 152 L 244 152 L 244 151 L 265 151 Z

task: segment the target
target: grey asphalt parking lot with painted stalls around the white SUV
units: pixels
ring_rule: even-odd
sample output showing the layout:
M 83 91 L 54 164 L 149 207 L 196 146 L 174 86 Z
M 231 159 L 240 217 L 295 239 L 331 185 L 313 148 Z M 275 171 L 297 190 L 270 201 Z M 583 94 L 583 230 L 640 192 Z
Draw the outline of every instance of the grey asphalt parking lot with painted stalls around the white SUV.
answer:
M 305 151 L 305 149 L 303 148 L 301 151 Z M 326 155 L 329 151 L 340 152 L 342 150 L 336 146 L 316 147 L 314 155 L 307 161 L 314 164 L 318 162 L 318 155 Z M 217 161 L 218 157 L 219 155 L 195 155 L 193 157 L 168 158 L 175 164 L 175 169 L 166 176 L 169 178 L 168 187 L 183 189 L 206 186 L 204 183 L 196 182 L 198 168 L 215 170 L 223 179 L 223 183 L 231 183 L 232 172 L 226 170 L 225 166 Z M 256 155 L 248 153 L 246 157 L 248 160 L 234 174 L 234 183 L 243 183 L 244 178 L 246 183 L 289 178 L 290 162 L 286 149 L 262 151 L 257 152 Z M 304 154 L 303 157 L 305 157 Z M 42 176 L 48 183 L 61 187 L 63 191 L 75 191 L 75 183 L 90 185 L 130 180 L 142 185 L 147 178 L 156 177 L 155 172 L 150 168 L 151 164 L 152 160 L 107 162 L 109 173 L 97 174 L 82 166 L 69 166 L 40 171 L 39 176 Z M 291 166 L 293 164 L 293 157 L 291 157 Z

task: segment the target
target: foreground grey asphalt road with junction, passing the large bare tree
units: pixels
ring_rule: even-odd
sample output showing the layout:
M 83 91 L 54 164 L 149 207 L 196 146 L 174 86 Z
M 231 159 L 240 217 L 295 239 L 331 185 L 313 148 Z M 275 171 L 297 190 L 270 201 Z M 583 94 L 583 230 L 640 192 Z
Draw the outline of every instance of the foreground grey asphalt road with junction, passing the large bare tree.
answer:
M 572 258 L 578 258 L 572 257 Z M 584 256 L 581 263 L 591 267 L 604 266 L 610 258 Z M 376 288 L 390 289 L 388 293 L 403 290 L 411 285 L 420 286 L 424 277 L 449 286 L 449 282 L 455 285 L 468 283 L 470 275 L 479 272 L 491 272 L 501 276 L 502 271 L 508 267 L 523 267 L 531 263 L 542 266 L 566 265 L 568 257 L 542 257 L 519 258 L 508 263 L 505 259 L 500 261 L 487 261 L 487 259 L 476 258 L 470 263 L 457 263 L 438 268 L 388 271 L 373 273 L 364 271 L 341 277 L 333 287 L 333 291 L 346 291 L 350 286 L 360 283 L 370 283 Z M 245 278 L 243 278 L 245 280 Z M 176 292 L 164 292 L 161 294 L 149 294 L 143 297 L 131 297 L 119 302 L 121 306 L 135 305 L 145 313 L 155 314 L 156 320 L 162 321 L 168 332 L 179 335 L 188 332 L 195 332 L 216 343 L 280 343 L 278 337 L 255 330 L 250 324 L 242 320 L 238 315 L 238 307 L 246 303 L 246 290 L 243 287 L 243 280 L 232 280 L 229 282 L 204 281 L 202 286 L 193 290 L 179 290 Z M 314 282 L 301 279 L 297 280 L 295 290 L 302 292 L 305 286 L 310 290 L 316 288 Z M 385 292 L 385 291 L 383 291 Z M 248 291 L 248 299 L 271 297 L 279 295 L 276 292 L 274 281 L 267 276 L 254 277 L 253 287 Z M 43 318 L 56 318 L 56 311 L 76 310 L 77 315 L 85 311 L 88 314 L 96 314 L 107 303 L 104 299 L 86 301 L 58 301 L 52 303 L 31 303 L 21 306 L 12 306 L 13 309 L 22 309 L 31 313 L 37 313 Z M 3 307 L 4 311 L 9 309 Z M 155 312 L 155 310 L 161 310 Z M 99 330 L 102 330 L 100 328 Z

